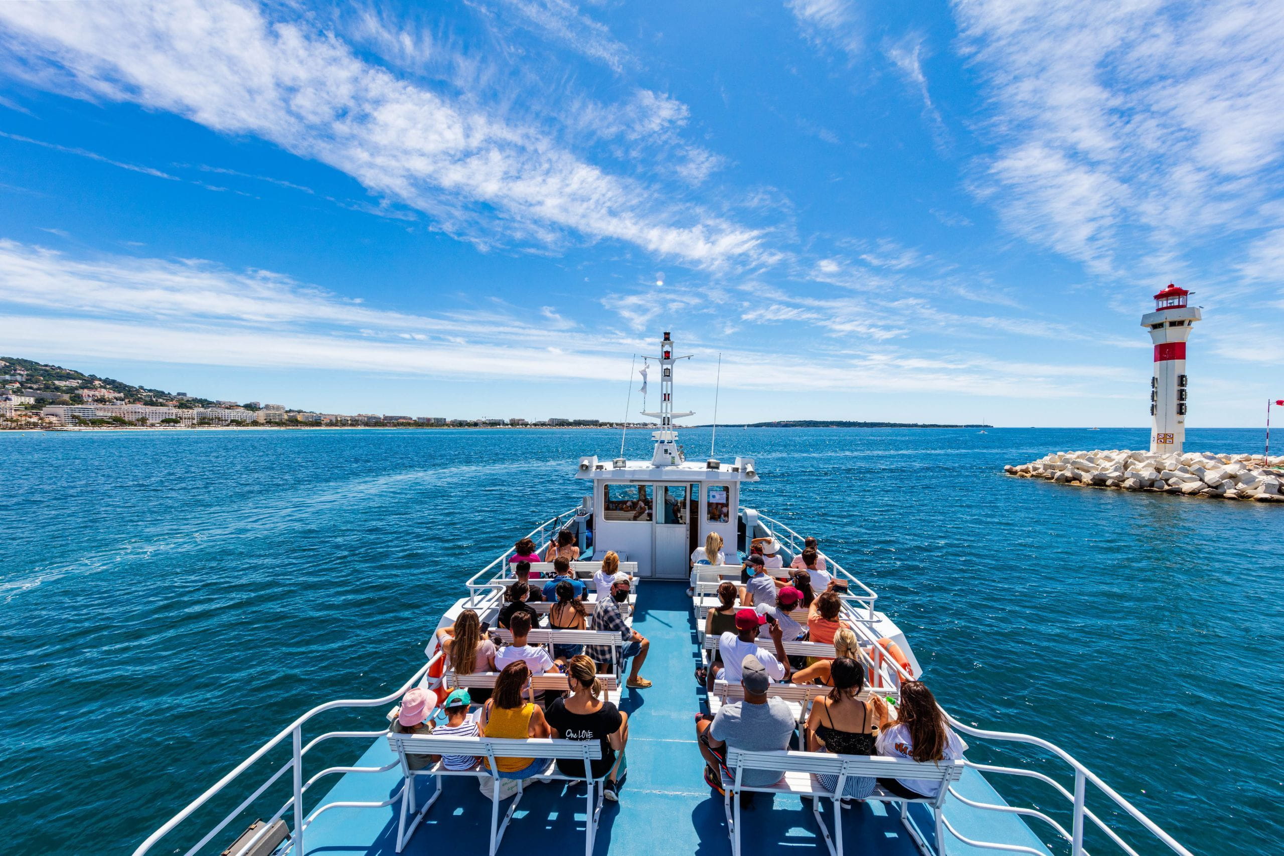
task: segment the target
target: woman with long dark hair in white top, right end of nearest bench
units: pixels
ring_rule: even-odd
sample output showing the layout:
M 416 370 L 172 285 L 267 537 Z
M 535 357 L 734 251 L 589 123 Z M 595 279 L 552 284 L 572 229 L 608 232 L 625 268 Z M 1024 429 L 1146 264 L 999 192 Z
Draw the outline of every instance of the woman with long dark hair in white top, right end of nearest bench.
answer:
M 896 719 L 889 720 L 887 703 L 878 696 L 869 699 L 878 712 L 878 755 L 892 758 L 926 761 L 955 761 L 967 751 L 964 743 L 945 723 L 945 714 L 936 705 L 932 690 L 919 680 L 907 680 L 900 685 L 900 703 Z M 905 800 L 935 800 L 941 783 L 930 779 L 878 779 L 889 793 Z

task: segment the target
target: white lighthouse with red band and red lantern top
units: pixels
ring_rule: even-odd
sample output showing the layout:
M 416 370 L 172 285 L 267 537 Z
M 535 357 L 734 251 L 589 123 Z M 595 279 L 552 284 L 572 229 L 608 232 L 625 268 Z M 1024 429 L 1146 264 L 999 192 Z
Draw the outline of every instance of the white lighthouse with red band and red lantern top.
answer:
M 1186 339 L 1199 321 L 1199 308 L 1188 307 L 1190 291 L 1168 284 L 1154 295 L 1154 312 L 1141 316 L 1141 326 L 1154 343 L 1154 377 L 1150 379 L 1150 452 L 1181 453 L 1186 439 Z

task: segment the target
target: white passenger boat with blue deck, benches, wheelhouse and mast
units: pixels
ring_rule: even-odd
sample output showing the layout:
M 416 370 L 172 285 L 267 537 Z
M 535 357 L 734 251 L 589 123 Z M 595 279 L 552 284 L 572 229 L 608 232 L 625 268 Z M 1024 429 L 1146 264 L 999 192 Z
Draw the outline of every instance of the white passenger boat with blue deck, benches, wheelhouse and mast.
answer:
M 611 551 L 620 557 L 619 570 L 633 578 L 623 608 L 632 629 L 650 640 L 646 671 L 654 683 L 646 689 L 623 687 L 619 663 L 614 675 L 603 675 L 607 698 L 629 716 L 619 802 L 603 801 L 601 780 L 586 783 L 583 776 L 561 775 L 551 764 L 507 793 L 487 769 L 456 771 L 433 760 L 452 753 L 492 762 L 556 757 L 582 760 L 587 770 L 600 757 L 593 755 L 596 740 L 390 733 L 389 706 L 411 688 L 428 690 L 440 703 L 448 688 L 489 689 L 494 684 L 496 672 L 452 671 L 438 634 L 433 634 L 422 663 L 402 684 L 377 698 L 325 702 L 299 716 L 153 832 L 135 856 L 428 856 L 458 851 L 489 856 L 501 851 L 523 856 L 578 851 L 586 856 L 765 856 L 786 852 L 783 848 L 791 856 L 842 856 L 845 851 L 862 856 L 1084 856 L 1089 846 L 1094 856 L 1138 856 L 1138 847 L 1154 852 L 1157 844 L 1192 856 L 1053 743 L 982 729 L 948 712 L 950 726 L 971 743 L 969 755 L 958 761 L 915 764 L 804 752 L 799 738 L 799 749 L 791 744 L 787 752 L 729 751 L 733 776 L 723 779 L 727 796 L 710 791 L 702 779 L 705 761 L 696 746 L 692 714 L 713 712 L 742 696 L 738 684 L 715 681 L 706 692 L 692 680 L 693 669 L 718 647 L 718 639 L 705 637 L 704 612 L 714 603 L 713 592 L 720 581 L 740 580 L 740 557 L 749 553 L 754 538 L 777 540 L 786 565 L 802 552 L 804 539 L 791 526 L 742 504 L 741 485 L 759 477 L 751 458 L 734 458 L 729 465 L 686 459 L 673 425 L 683 415 L 673 412 L 677 358 L 669 334 L 660 353 L 661 409 L 647 413 L 660 420 L 652 459 L 580 458 L 577 476 L 591 480 L 591 495 L 528 535 L 543 554 L 559 533 L 570 530 L 582 549 L 582 561 L 571 562 L 571 572 L 592 576 Z M 687 594 L 691 551 L 710 531 L 723 535 L 728 563 L 695 569 L 696 585 Z M 833 556 L 822 556 L 828 572 L 845 584 L 841 615 L 859 640 L 859 652 L 853 656 L 867 670 L 863 692 L 885 696 L 895 705 L 901 683 L 922 671 L 909 640 L 877 608 L 878 595 L 871 588 Z M 494 628 L 515 580 L 512 557 L 514 551 L 503 548 L 464 583 L 462 597 L 440 616 L 437 628 L 452 626 L 465 610 Z M 552 569 L 538 563 L 533 570 Z M 389 592 L 389 597 L 411 595 Z M 587 586 L 584 598 L 596 606 L 593 585 Z M 548 612 L 548 603 L 530 606 Z M 511 640 L 507 630 L 492 633 L 499 642 Z M 602 646 L 614 648 L 618 660 L 621 638 L 589 626 L 532 630 L 528 643 Z M 790 642 L 786 653 L 836 656 L 832 644 L 813 640 Z M 561 675 L 532 678 L 535 692 L 565 688 Z M 806 721 L 818 694 L 827 692 L 827 687 L 788 683 L 768 689 L 790 706 L 799 724 Z M 475 708 L 471 715 L 476 716 Z M 742 787 L 745 769 L 778 770 L 782 778 L 765 788 Z M 826 792 L 811 775 L 819 773 L 836 775 L 838 785 Z M 863 802 L 841 798 L 845 776 L 883 774 L 931 778 L 940 785 L 937 796 L 905 801 L 878 787 Z M 1034 806 L 1012 805 L 995 787 L 1000 780 L 1031 785 L 1004 784 L 1004 792 Z M 754 791 L 759 798 L 752 807 L 742 807 L 734 794 Z M 232 841 L 252 817 L 261 820 Z

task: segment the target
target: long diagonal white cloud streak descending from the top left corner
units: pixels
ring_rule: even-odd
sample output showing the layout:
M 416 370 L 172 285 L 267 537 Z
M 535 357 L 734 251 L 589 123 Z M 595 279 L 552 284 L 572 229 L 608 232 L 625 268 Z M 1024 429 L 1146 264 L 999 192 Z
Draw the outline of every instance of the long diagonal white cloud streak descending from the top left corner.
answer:
M 24 58 L 12 74 L 259 136 L 480 241 L 614 239 L 691 264 L 751 257 L 760 243 L 537 128 L 399 80 L 308 19 L 227 0 L 0 4 L 0 39 Z

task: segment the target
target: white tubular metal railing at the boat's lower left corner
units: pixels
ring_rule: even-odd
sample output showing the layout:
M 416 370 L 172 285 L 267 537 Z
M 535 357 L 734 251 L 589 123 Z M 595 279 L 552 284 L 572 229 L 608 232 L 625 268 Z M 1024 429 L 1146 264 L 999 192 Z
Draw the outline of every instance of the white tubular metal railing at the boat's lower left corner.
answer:
M 250 847 L 253 847 L 265 834 L 267 834 L 267 832 L 272 828 L 272 825 L 277 820 L 280 820 L 281 817 L 284 817 L 285 814 L 288 811 L 290 811 L 291 809 L 293 809 L 293 820 L 294 820 L 294 829 L 290 833 L 290 838 L 293 839 L 291 848 L 293 848 L 294 853 L 303 853 L 303 830 L 307 828 L 307 825 L 311 823 L 311 820 L 313 817 L 316 817 L 316 815 L 321 814 L 322 811 L 325 811 L 329 807 L 334 807 L 334 806 L 339 805 L 339 803 L 331 803 L 331 805 L 326 805 L 326 806 L 320 806 L 320 807 L 317 807 L 312 812 L 311 816 L 307 816 L 304 814 L 304 811 L 303 811 L 303 796 L 304 796 L 304 793 L 307 792 L 307 789 L 309 787 L 312 787 L 313 784 L 316 784 L 316 782 L 318 779 L 321 779 L 322 776 L 326 776 L 326 775 L 330 775 L 330 774 L 334 774 L 334 773 L 381 773 L 381 771 L 392 769 L 389 766 L 383 766 L 383 767 L 354 767 L 354 766 L 327 767 L 327 769 L 322 770 L 321 773 L 317 773 L 315 776 L 312 776 L 311 779 L 308 779 L 307 783 L 304 783 L 303 782 L 303 757 L 304 757 L 304 755 L 307 755 L 308 749 L 313 748 L 315 746 L 317 746 L 322 740 L 327 740 L 327 739 L 333 739 L 333 738 L 356 738 L 356 737 L 367 737 L 369 738 L 369 737 L 379 737 L 381 734 L 386 734 L 388 732 L 386 730 L 383 730 L 383 732 L 327 732 L 327 733 L 321 734 L 320 737 L 312 739 L 307 746 L 304 746 L 303 744 L 303 725 L 306 723 L 308 723 L 308 720 L 311 720 L 312 717 L 315 717 L 315 716 L 317 716 L 320 714 L 324 714 L 326 711 L 330 711 L 330 710 L 336 710 L 336 708 L 342 708 L 342 707 L 377 707 L 380 705 L 386 705 L 386 703 L 389 703 L 392 701 L 395 701 L 395 699 L 401 698 L 402 696 L 404 696 L 406 692 L 411 687 L 413 687 L 415 684 L 417 684 L 419 681 L 421 681 L 424 679 L 424 675 L 428 674 L 428 670 L 433 667 L 433 665 L 438 661 L 439 657 L 440 657 L 440 655 L 437 655 L 431 660 L 429 660 L 428 662 L 425 662 L 422 666 L 420 666 L 415 671 L 413 675 L 411 675 L 410 680 L 407 680 L 404 684 L 401 685 L 399 689 L 397 689 L 393 693 L 389 693 L 388 696 L 383 696 L 380 698 L 344 698 L 344 699 L 339 699 L 339 701 L 326 702 L 324 705 L 318 705 L 318 706 L 313 707 L 307 714 L 304 714 L 303 716 L 298 717 L 297 720 L 294 720 L 293 723 L 290 723 L 288 726 L 285 726 L 285 729 L 282 729 L 276 737 L 273 737 L 272 739 L 270 739 L 267 743 L 265 743 L 263 746 L 261 746 L 253 755 L 250 755 L 244 761 L 241 761 L 235 767 L 232 767 L 232 770 L 229 771 L 222 779 L 220 779 L 218 782 L 216 782 L 208 791 L 205 791 L 203 794 L 200 794 L 199 797 L 196 797 L 195 800 L 193 800 L 190 803 L 187 803 L 187 806 L 185 809 L 182 809 L 182 811 L 180 811 L 173 817 L 171 817 L 168 821 L 166 821 L 164 825 L 162 825 L 154 833 L 152 833 L 150 835 L 148 835 L 148 838 L 141 844 L 139 844 L 137 850 L 134 851 L 134 856 L 143 856 L 144 853 L 146 853 L 148 851 L 150 851 L 157 844 L 157 842 L 159 842 L 162 838 L 164 838 L 167 834 L 169 834 L 171 830 L 173 830 L 178 824 L 181 824 L 184 820 L 186 820 L 187 817 L 190 817 L 198 809 L 200 809 L 207 802 L 209 802 L 209 800 L 212 800 L 216 794 L 221 793 L 223 791 L 223 788 L 226 788 L 232 780 L 235 780 L 245 770 L 248 770 L 250 766 L 253 766 L 256 761 L 258 761 L 265 755 L 267 755 L 270 751 L 272 751 L 275 747 L 277 747 L 282 740 L 285 740 L 286 737 L 289 737 L 290 742 L 291 742 L 290 760 L 286 761 L 285 764 L 282 764 L 275 773 L 272 773 L 272 775 L 270 775 L 261 785 L 258 785 L 258 788 L 256 788 L 254 792 L 250 793 L 249 797 L 247 797 L 244 801 L 241 801 L 241 803 L 238 805 L 236 809 L 234 809 L 230 814 L 227 814 L 217 825 L 214 825 L 213 829 L 211 829 L 208 833 L 205 833 L 204 838 L 202 838 L 190 850 L 187 850 L 185 856 L 194 856 L 196 852 L 199 852 L 205 844 L 208 844 L 214 838 L 214 835 L 217 835 L 218 833 L 221 833 L 227 826 L 227 824 L 230 824 L 243 811 L 245 811 L 245 809 L 248 809 L 256 800 L 258 800 L 258 797 L 262 796 L 263 792 L 267 791 L 270 787 L 272 787 L 288 770 L 291 773 L 291 776 L 293 776 L 293 783 L 291 783 L 293 787 L 291 787 L 291 796 L 290 796 L 290 798 L 285 801 L 285 805 L 282 805 L 280 807 L 280 810 L 277 810 L 276 814 L 272 815 L 272 817 L 266 824 L 263 824 L 262 829 L 259 829 L 258 833 L 256 833 L 254 837 L 250 838 L 250 841 L 248 841 L 238 852 L 230 853 L 229 856 L 243 856 L 245 853 L 245 851 L 248 851 Z M 370 805 L 370 806 L 375 806 L 375 805 L 388 805 L 388 803 L 343 803 L 343 805 L 362 805 L 362 806 Z

